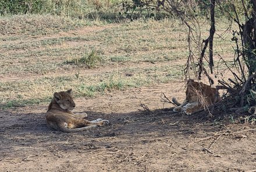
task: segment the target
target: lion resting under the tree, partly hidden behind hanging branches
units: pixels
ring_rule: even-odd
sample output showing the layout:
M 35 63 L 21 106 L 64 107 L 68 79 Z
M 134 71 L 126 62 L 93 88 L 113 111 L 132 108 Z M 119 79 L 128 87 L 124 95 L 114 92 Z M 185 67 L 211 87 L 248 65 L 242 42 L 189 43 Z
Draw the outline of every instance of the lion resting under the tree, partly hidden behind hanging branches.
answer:
M 189 79 L 187 81 L 186 99 L 183 103 L 180 104 L 175 97 L 172 98 L 172 101 L 177 105 L 173 108 L 174 112 L 184 112 L 191 115 L 221 101 L 221 96 L 219 96 L 216 88 Z

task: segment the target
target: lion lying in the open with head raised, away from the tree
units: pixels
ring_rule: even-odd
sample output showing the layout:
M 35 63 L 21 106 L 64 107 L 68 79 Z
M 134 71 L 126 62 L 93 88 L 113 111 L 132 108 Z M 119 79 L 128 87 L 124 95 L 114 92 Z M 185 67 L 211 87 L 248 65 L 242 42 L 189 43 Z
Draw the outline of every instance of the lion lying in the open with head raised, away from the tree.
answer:
M 97 126 L 105 126 L 108 120 L 86 120 L 87 114 L 73 114 L 72 110 L 76 107 L 73 101 L 72 89 L 66 92 L 54 93 L 51 103 L 46 113 L 47 125 L 55 130 L 65 133 L 72 133 L 91 129 Z

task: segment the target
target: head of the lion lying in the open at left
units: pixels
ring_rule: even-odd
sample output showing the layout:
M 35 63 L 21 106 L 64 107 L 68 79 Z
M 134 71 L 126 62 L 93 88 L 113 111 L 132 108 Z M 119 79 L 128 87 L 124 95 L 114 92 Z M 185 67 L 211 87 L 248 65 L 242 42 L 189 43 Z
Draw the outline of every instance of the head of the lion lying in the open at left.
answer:
M 54 93 L 54 99 L 56 103 L 64 110 L 73 110 L 76 104 L 73 101 L 72 90 L 67 90 L 67 92 Z

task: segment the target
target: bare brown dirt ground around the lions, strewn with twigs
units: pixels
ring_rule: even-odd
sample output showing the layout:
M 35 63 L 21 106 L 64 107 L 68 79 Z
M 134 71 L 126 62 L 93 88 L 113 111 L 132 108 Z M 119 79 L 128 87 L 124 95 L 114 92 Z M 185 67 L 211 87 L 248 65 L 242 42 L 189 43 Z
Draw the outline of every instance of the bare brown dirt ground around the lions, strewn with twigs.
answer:
M 77 98 L 76 112 L 111 122 L 81 133 L 49 129 L 45 104 L 1 111 L 0 171 L 256 171 L 255 125 L 162 109 L 173 85 Z

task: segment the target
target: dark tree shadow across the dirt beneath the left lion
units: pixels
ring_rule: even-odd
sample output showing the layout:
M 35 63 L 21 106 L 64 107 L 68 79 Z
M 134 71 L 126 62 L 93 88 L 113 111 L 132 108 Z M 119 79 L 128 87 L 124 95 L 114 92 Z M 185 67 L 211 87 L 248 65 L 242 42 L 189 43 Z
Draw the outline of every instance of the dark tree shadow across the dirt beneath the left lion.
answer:
M 111 138 L 119 138 L 119 144 L 130 145 L 131 142 L 141 138 L 147 142 L 153 138 L 168 137 L 171 133 L 191 136 L 200 134 L 202 131 L 219 131 L 221 127 L 218 123 L 210 123 L 209 125 L 209 122 L 200 120 L 197 116 L 174 113 L 172 108 L 123 114 L 84 112 L 88 114 L 88 120 L 108 119 L 110 124 L 79 133 L 63 133 L 47 127 L 44 113 L 14 114 L 6 111 L 1 112 L 1 155 L 7 156 L 17 148 L 22 150 L 28 147 L 41 149 L 45 147 L 48 150 L 56 148 L 66 151 L 81 148 L 106 148 L 116 144 L 115 141 L 109 141 Z M 206 122 L 208 125 L 204 126 Z

